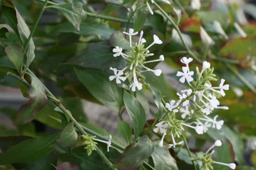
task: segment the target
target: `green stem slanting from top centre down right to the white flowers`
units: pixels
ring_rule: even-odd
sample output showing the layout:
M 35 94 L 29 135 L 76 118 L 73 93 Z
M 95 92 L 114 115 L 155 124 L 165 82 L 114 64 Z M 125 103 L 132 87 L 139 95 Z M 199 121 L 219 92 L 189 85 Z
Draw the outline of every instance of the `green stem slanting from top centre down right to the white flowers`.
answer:
M 180 40 L 188 53 L 199 63 L 202 63 L 202 61 L 189 49 L 188 45 L 186 44 L 184 38 L 181 35 L 179 27 L 175 24 L 175 22 L 169 17 L 169 15 L 156 3 L 154 2 L 155 7 L 167 18 L 168 21 L 171 22 L 171 25 L 174 27 L 174 29 L 178 32 Z

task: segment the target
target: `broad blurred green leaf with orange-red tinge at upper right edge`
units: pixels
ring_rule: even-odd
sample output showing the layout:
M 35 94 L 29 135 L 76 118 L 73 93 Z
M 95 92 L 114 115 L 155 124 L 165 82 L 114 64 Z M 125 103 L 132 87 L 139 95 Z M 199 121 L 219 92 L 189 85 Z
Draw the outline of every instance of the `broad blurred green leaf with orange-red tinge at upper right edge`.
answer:
M 237 60 L 256 55 L 256 36 L 230 40 L 221 48 L 220 55 Z

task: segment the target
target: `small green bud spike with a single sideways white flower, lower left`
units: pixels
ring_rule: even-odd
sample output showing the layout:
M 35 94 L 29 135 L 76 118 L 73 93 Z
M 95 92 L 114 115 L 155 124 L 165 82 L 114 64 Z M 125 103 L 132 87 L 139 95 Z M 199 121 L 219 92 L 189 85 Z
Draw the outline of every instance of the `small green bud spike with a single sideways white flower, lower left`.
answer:
M 85 140 L 83 145 L 85 145 L 85 150 L 87 151 L 88 156 L 90 156 L 92 152 L 96 150 L 97 142 L 94 142 L 93 140 L 107 144 L 107 152 L 109 152 L 109 147 L 111 147 L 111 139 L 112 139 L 111 135 L 109 135 L 108 141 L 97 139 L 95 138 L 96 136 L 82 135 L 81 137 L 84 138 Z

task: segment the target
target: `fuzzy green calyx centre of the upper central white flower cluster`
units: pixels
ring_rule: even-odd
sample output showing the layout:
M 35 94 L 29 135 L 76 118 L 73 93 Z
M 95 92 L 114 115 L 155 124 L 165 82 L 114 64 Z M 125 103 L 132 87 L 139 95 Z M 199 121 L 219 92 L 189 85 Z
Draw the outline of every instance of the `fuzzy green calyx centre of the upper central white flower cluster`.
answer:
M 136 67 L 136 65 L 144 65 L 146 58 L 149 56 L 147 53 L 147 49 L 144 48 L 144 44 L 138 45 L 136 42 L 134 46 L 130 47 L 130 51 L 128 52 L 128 63 L 127 66 L 130 67 L 130 65 L 133 65 L 133 68 Z

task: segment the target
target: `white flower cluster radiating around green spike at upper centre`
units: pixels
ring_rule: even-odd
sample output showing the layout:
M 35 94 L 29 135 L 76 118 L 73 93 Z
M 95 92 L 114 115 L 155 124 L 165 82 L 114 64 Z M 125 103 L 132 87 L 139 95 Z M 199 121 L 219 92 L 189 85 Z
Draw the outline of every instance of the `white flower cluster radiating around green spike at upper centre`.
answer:
M 138 32 L 134 33 L 133 29 L 129 29 L 129 33 L 123 32 L 124 34 L 127 34 L 129 36 L 129 41 L 130 41 L 130 49 L 127 51 L 127 53 L 123 53 L 123 49 L 121 47 L 116 46 L 113 49 L 113 52 L 115 53 L 113 56 L 118 57 L 121 56 L 127 61 L 127 65 L 125 68 L 122 70 L 117 70 L 116 68 L 110 67 L 110 70 L 114 71 L 114 75 L 109 77 L 109 80 L 112 81 L 116 79 L 116 83 L 120 84 L 121 80 L 125 81 L 127 77 L 132 75 L 133 81 L 129 85 L 129 87 L 132 89 L 132 91 L 136 91 L 136 88 L 138 90 L 142 89 L 142 80 L 138 80 L 137 77 L 141 77 L 143 79 L 143 76 L 141 75 L 141 72 L 143 71 L 151 71 L 153 72 L 156 76 L 160 76 L 162 71 L 160 69 L 150 69 L 145 66 L 145 64 L 150 63 L 150 62 L 157 62 L 157 61 L 164 61 L 164 56 L 160 55 L 159 59 L 157 60 L 151 60 L 151 61 L 146 61 L 147 57 L 153 56 L 153 53 L 149 52 L 149 48 L 154 45 L 154 44 L 162 44 L 163 42 L 157 37 L 157 35 L 154 35 L 154 41 L 147 46 L 146 48 L 144 47 L 144 43 L 146 40 L 142 38 L 143 36 L 143 31 L 140 32 L 140 37 L 138 43 L 132 43 L 132 36 L 137 35 Z M 143 69 L 143 70 L 141 70 Z

